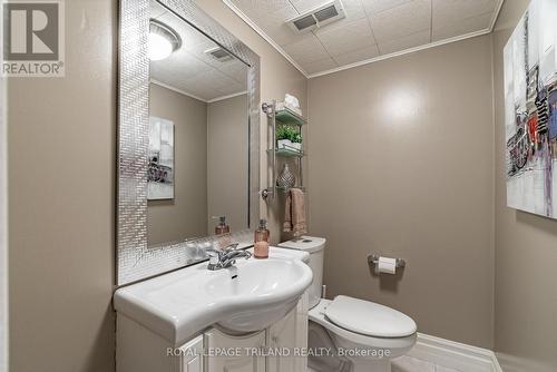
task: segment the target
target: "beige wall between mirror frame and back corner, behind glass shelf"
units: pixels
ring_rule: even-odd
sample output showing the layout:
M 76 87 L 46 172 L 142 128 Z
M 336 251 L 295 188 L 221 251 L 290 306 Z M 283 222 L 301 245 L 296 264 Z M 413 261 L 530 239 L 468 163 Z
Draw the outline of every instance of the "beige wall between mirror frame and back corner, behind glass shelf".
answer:
M 290 92 L 300 99 L 304 112 L 307 112 L 307 80 L 300 71 L 234 14 L 222 0 L 203 0 L 196 1 L 196 3 L 261 57 L 262 101 L 281 99 L 284 94 Z M 268 163 L 265 151 L 267 148 L 267 120 L 264 115 L 261 116 L 261 185 L 264 188 L 271 180 L 267 179 Z M 280 227 L 284 214 L 284 200 L 281 198 L 268 203 L 261 200 L 260 206 L 262 218 L 266 217 L 270 221 L 271 238 L 273 242 L 277 242 L 281 236 Z

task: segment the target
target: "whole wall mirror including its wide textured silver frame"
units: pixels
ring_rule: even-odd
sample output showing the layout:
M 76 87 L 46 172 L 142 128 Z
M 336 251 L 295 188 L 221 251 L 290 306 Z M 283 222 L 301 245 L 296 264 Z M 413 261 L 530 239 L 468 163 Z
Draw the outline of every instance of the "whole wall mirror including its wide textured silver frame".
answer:
M 258 57 L 190 0 L 120 0 L 117 284 L 248 245 Z M 231 233 L 216 235 L 213 217 Z

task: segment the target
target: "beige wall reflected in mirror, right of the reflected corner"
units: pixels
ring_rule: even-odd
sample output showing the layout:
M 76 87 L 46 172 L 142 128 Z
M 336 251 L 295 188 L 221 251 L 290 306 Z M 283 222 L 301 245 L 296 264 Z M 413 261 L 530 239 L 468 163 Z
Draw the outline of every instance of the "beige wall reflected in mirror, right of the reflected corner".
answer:
M 226 216 L 232 232 L 247 227 L 250 128 L 247 96 L 207 105 L 207 231 Z

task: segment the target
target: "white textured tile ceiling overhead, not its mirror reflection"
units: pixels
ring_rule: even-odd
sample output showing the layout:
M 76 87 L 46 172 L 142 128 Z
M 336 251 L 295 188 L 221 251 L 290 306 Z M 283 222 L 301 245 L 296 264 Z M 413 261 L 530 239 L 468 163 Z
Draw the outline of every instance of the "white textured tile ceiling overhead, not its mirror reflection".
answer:
M 346 18 L 305 35 L 284 21 L 330 0 L 223 1 L 312 76 L 490 32 L 504 0 L 342 0 Z

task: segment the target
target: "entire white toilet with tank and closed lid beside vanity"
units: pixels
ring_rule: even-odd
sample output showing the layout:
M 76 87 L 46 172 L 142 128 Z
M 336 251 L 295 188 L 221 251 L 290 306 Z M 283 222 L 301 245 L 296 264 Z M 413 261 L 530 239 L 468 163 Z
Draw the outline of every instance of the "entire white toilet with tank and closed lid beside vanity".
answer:
M 416 322 L 403 313 L 370 301 L 339 295 L 321 298 L 323 255 L 326 239 L 302 236 L 278 244 L 282 248 L 305 251 L 313 271 L 307 290 L 310 324 L 309 371 L 389 372 L 391 360 L 404 355 L 416 343 Z

